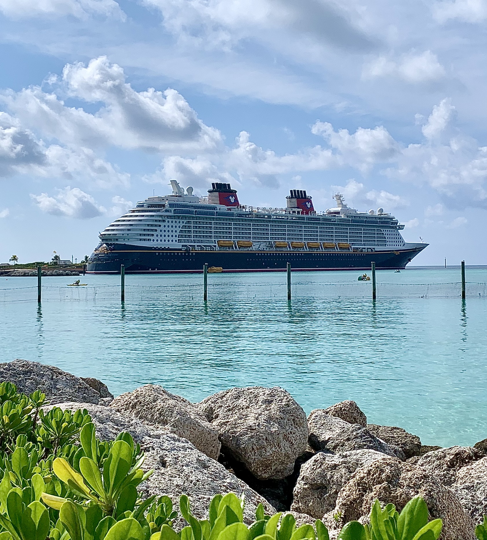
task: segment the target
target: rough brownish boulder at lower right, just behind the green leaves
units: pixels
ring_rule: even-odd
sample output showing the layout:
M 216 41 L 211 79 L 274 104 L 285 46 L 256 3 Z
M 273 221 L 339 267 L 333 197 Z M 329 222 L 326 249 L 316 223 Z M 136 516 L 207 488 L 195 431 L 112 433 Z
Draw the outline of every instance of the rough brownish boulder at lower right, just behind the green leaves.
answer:
M 331 529 L 339 528 L 333 519 L 337 512 L 341 512 L 343 523 L 364 522 L 376 498 L 383 504 L 395 504 L 400 512 L 418 495 L 424 498 L 431 519 L 443 519 L 442 540 L 475 540 L 473 521 L 449 488 L 427 471 L 391 457 L 358 469 L 341 489 L 325 522 Z

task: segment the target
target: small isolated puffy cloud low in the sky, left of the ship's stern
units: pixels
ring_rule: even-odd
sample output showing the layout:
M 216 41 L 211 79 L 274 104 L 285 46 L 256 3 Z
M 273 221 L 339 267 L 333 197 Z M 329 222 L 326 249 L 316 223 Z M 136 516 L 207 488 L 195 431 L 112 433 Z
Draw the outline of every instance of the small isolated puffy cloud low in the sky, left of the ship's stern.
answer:
M 54 197 L 50 197 L 47 193 L 31 194 L 30 197 L 42 212 L 57 216 L 90 219 L 106 212 L 103 206 L 96 204 L 91 195 L 81 191 L 78 187 L 70 188 L 68 186 L 60 190 Z

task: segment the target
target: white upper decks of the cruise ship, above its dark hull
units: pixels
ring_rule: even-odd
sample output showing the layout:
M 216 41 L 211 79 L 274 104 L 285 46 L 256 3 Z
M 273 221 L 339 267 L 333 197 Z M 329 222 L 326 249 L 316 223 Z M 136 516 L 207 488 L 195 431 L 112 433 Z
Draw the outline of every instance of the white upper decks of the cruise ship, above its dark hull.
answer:
M 212 203 L 218 203 L 218 196 L 220 200 L 226 197 L 224 204 L 208 204 L 207 198 L 193 195 L 192 187 L 185 192 L 175 180 L 171 185 L 172 194 L 140 201 L 111 223 L 100 234 L 102 244 L 303 251 L 424 247 L 424 244 L 406 244 L 400 233 L 404 225 L 382 208 L 358 212 L 348 208 L 339 193 L 335 194 L 334 208 L 316 213 L 311 197 L 300 190 L 291 191 L 286 208 L 253 208 L 240 205 L 236 192 L 228 184 L 213 184 L 209 194 Z M 223 199 L 222 195 L 225 195 Z

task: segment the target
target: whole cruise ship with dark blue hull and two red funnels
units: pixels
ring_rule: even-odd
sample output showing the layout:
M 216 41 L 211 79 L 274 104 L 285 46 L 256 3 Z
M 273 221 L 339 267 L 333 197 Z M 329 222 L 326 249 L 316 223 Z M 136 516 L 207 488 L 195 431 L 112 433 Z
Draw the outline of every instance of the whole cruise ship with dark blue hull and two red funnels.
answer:
M 291 190 L 285 208 L 241 205 L 230 184 L 213 183 L 208 197 L 173 192 L 140 201 L 100 233 L 88 273 L 223 272 L 404 268 L 427 244 L 404 241 L 393 215 L 336 206 L 314 211 L 304 190 Z

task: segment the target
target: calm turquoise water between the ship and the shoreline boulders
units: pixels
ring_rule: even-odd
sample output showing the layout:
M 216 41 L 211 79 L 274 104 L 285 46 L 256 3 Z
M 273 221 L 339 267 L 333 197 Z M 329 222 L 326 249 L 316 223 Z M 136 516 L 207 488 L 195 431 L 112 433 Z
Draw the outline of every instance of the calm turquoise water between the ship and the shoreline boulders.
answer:
M 355 283 L 357 272 L 293 274 L 293 282 Z M 284 273 L 213 274 L 228 298 L 0 303 L 0 358 L 58 366 L 114 394 L 161 384 L 200 401 L 232 386 L 281 386 L 308 413 L 353 399 L 371 423 L 404 427 L 424 444 L 487 437 L 487 300 L 232 299 L 232 286 L 277 284 Z M 384 283 L 459 281 L 458 268 L 377 273 Z M 115 285 L 119 276 L 91 276 Z M 45 278 L 67 285 L 73 278 Z M 487 281 L 486 268 L 467 280 Z M 201 284 L 201 275 L 127 276 L 127 285 Z M 36 278 L 0 278 L 0 288 Z M 116 289 L 115 289 L 116 290 Z

